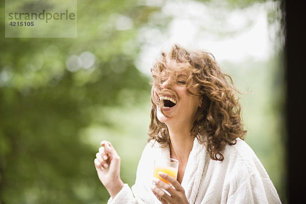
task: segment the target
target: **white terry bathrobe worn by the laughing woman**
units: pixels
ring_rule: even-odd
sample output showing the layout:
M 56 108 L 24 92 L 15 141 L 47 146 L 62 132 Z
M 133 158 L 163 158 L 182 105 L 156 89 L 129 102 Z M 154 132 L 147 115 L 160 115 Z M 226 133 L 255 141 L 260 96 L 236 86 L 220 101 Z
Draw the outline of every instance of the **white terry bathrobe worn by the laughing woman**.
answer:
M 281 203 L 253 150 L 241 139 L 226 145 L 222 162 L 210 159 L 205 145 L 193 142 L 182 186 L 189 203 Z M 161 203 L 151 192 L 155 158 L 170 157 L 169 147 L 148 143 L 138 164 L 136 182 L 110 198 L 109 204 Z

